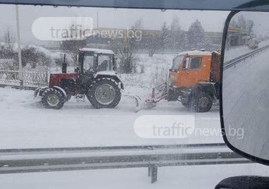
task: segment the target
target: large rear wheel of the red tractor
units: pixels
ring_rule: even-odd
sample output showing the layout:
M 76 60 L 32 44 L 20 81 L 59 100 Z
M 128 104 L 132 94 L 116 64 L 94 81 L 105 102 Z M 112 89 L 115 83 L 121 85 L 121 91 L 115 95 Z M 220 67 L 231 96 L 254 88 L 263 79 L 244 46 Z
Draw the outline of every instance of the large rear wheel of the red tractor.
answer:
M 86 96 L 97 109 L 113 109 L 121 100 L 121 89 L 115 80 L 100 78 L 90 85 Z

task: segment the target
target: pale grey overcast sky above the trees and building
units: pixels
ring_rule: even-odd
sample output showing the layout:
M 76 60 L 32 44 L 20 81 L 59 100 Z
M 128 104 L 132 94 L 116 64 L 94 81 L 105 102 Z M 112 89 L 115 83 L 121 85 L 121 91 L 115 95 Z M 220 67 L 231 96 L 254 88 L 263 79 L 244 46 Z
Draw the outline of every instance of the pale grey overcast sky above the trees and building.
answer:
M 162 23 L 171 23 L 174 16 L 179 17 L 183 30 L 199 19 L 205 31 L 222 32 L 227 11 L 172 11 L 167 10 L 139 10 L 119 8 L 77 8 L 52 6 L 19 6 L 20 30 L 23 43 L 38 43 L 32 35 L 32 23 L 40 17 L 92 17 L 94 28 L 97 27 L 97 12 L 99 14 L 99 28 L 128 28 L 136 20 L 143 20 L 143 28 L 159 30 Z M 6 26 L 16 28 L 16 11 L 13 5 L 0 5 L 0 36 Z M 4 18 L 4 19 L 3 19 Z M 259 20 L 259 19 L 258 19 Z

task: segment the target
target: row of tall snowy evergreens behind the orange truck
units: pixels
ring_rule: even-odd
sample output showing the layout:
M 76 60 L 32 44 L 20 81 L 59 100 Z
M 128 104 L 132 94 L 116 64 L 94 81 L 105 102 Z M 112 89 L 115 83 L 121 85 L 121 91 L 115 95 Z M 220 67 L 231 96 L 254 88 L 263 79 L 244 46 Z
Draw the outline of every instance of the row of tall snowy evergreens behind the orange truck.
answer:
M 136 21 L 133 25 L 134 30 L 143 29 L 142 20 Z M 174 17 L 170 25 L 164 22 L 160 28 L 160 32 L 153 34 L 151 39 L 143 40 L 143 42 L 136 42 L 135 45 L 138 49 L 147 49 L 148 55 L 153 56 L 156 51 L 160 50 L 175 50 L 184 51 L 191 49 L 192 47 L 196 49 L 201 49 L 207 44 L 207 39 L 205 39 L 205 31 L 201 22 L 196 20 L 191 24 L 189 30 L 186 32 L 181 29 L 179 24 L 179 18 Z

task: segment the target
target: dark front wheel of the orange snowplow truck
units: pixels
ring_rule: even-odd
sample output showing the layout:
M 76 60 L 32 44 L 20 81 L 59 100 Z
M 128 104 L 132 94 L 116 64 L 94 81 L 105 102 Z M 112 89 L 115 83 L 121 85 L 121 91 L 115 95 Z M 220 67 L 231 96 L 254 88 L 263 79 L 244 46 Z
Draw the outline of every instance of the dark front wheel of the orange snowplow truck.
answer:
M 191 96 L 190 108 L 195 112 L 210 111 L 213 106 L 213 97 L 208 92 L 197 92 Z

